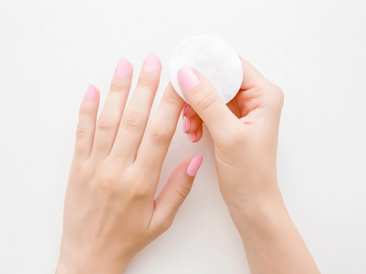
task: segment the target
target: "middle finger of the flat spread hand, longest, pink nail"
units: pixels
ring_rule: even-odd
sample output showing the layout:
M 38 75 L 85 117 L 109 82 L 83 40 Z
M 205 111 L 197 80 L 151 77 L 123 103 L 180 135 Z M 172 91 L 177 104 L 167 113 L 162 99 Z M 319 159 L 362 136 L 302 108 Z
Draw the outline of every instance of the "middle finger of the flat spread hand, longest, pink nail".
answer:
M 112 155 L 132 163 L 136 158 L 150 110 L 159 85 L 161 62 L 149 53 L 142 65 L 131 101 L 122 115 Z

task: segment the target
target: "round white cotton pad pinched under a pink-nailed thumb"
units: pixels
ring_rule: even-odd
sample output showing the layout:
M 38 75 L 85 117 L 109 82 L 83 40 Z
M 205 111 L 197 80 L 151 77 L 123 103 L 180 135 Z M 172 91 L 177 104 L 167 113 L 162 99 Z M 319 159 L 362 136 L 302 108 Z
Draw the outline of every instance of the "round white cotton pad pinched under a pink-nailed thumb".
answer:
M 183 41 L 173 52 L 170 63 L 170 81 L 184 101 L 177 73 L 182 66 L 198 69 L 228 103 L 238 93 L 243 80 L 243 68 L 235 50 L 225 41 L 200 35 Z

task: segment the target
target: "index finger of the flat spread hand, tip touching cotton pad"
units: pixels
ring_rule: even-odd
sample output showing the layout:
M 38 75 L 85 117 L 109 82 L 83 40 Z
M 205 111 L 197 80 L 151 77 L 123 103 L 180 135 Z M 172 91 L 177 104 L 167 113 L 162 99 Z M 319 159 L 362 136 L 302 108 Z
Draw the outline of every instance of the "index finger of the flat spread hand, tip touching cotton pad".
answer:
M 169 83 L 158 110 L 147 128 L 134 164 L 150 176 L 160 174 L 183 104 L 183 99 Z

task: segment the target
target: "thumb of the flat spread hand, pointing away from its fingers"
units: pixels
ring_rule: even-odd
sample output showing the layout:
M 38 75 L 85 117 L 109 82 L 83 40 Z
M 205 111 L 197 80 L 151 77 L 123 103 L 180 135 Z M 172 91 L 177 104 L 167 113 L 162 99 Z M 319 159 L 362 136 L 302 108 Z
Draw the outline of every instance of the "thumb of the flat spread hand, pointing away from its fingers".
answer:
M 178 209 L 190 193 L 203 156 L 189 157 L 175 168 L 167 184 L 155 200 L 155 209 L 149 227 L 153 231 L 167 230 Z

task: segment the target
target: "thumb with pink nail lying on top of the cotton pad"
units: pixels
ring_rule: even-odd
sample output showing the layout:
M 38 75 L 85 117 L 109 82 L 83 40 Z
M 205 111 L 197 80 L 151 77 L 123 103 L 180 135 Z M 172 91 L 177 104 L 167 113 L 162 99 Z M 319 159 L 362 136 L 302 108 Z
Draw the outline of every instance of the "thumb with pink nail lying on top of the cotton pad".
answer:
M 178 81 L 188 103 L 202 118 L 211 134 L 224 132 L 228 121 L 237 119 L 210 81 L 197 69 L 183 66 L 178 71 Z

